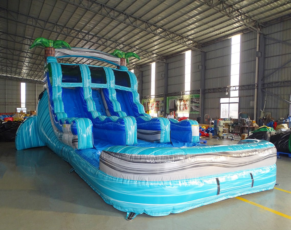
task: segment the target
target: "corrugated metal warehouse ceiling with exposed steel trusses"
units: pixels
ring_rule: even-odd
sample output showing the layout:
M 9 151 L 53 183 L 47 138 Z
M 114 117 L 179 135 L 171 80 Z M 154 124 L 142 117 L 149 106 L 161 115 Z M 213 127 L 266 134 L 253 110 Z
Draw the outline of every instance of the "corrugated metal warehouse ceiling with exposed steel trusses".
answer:
M 44 51 L 29 50 L 37 37 L 108 53 L 133 51 L 141 60 L 132 58 L 129 67 L 138 69 L 290 14 L 285 0 L 6 0 L 0 6 L 0 75 L 42 79 Z

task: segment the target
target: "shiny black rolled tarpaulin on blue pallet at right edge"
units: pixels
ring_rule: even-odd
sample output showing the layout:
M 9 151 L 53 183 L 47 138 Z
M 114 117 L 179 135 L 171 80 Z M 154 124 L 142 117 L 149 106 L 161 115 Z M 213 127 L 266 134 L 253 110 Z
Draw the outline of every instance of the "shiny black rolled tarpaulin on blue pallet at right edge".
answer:
M 275 134 L 270 142 L 276 146 L 278 152 L 291 153 L 291 129 Z

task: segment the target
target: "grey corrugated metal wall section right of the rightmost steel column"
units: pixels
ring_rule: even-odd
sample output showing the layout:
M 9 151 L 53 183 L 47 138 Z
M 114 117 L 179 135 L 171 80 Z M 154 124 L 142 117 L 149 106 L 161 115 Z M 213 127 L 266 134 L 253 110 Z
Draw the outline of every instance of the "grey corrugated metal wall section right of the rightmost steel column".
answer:
M 291 43 L 291 20 L 280 22 L 278 24 L 266 27 L 263 32 L 271 38 L 286 41 Z M 272 39 L 266 38 L 265 47 L 265 71 L 264 76 L 268 76 L 273 71 L 276 71 L 284 63 L 291 60 L 291 46 L 283 44 Z M 285 65 L 283 68 L 274 72 L 266 82 L 280 82 L 284 80 L 291 80 L 291 63 Z M 266 98 L 265 111 L 271 112 L 274 119 L 287 117 L 289 114 L 289 104 L 283 100 L 278 99 L 276 96 L 269 94 L 276 94 L 285 100 L 290 100 L 291 87 L 268 87 L 266 89 L 269 93 Z M 265 103 L 265 94 L 263 94 L 263 105 Z

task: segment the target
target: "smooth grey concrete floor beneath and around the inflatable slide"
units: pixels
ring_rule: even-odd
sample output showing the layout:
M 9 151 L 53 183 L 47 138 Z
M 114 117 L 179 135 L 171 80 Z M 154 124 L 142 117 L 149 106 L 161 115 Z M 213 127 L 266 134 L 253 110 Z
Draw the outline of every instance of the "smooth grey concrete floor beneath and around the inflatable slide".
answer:
M 233 143 L 207 140 L 208 145 Z M 291 229 L 291 158 L 281 157 L 276 187 L 287 191 L 242 196 L 259 207 L 231 198 L 179 214 L 141 214 L 127 221 L 126 213 L 106 204 L 75 172 L 68 173 L 70 164 L 49 148 L 16 151 L 13 142 L 1 142 L 0 229 Z

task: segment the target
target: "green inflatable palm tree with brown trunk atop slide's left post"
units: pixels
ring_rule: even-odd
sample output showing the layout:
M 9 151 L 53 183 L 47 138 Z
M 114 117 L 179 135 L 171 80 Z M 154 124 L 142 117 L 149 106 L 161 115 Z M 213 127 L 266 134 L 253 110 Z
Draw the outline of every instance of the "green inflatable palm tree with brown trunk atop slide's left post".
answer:
M 45 48 L 45 60 L 49 56 L 51 57 L 55 56 L 55 49 L 63 48 L 63 47 L 71 49 L 70 45 L 66 43 L 65 41 L 62 41 L 62 40 L 54 41 L 54 40 L 49 40 L 46 38 L 36 38 L 33 44 L 29 47 L 29 49 L 32 49 L 36 46 Z

